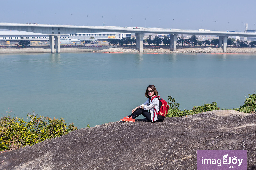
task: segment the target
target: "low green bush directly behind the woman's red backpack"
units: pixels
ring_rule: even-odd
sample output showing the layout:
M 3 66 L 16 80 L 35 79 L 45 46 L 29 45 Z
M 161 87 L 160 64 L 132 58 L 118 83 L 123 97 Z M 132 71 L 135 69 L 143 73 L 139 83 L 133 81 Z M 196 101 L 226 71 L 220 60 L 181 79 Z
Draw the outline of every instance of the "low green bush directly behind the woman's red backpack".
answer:
M 169 110 L 166 117 L 180 117 L 180 116 L 192 115 L 192 114 L 197 114 L 197 113 L 207 112 L 212 110 L 220 110 L 220 107 L 217 107 L 217 103 L 212 102 L 212 104 L 209 103 L 209 104 L 204 104 L 202 106 L 195 106 L 192 108 L 192 110 L 184 109 L 183 111 L 181 111 L 178 108 L 180 104 L 175 103 L 175 99 L 172 99 L 172 96 L 168 96 L 168 100 L 170 100 L 170 102 L 168 102 Z

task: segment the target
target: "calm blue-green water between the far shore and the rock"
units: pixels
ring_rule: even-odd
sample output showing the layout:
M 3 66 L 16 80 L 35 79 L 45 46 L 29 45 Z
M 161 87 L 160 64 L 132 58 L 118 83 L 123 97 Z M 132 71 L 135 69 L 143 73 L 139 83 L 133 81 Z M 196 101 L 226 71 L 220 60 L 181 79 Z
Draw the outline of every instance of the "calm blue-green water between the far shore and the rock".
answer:
M 213 101 L 235 108 L 256 91 L 255 65 L 251 54 L 0 54 L 0 113 L 95 126 L 130 114 L 150 84 L 182 110 Z

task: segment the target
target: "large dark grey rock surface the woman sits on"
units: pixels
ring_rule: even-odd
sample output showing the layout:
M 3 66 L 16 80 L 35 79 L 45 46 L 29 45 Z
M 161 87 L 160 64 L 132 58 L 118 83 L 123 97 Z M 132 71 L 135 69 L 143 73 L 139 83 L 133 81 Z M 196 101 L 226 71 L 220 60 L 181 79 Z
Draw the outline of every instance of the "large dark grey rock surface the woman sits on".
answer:
M 196 169 L 196 150 L 247 150 L 256 169 L 256 115 L 216 110 L 149 123 L 110 122 L 0 154 L 0 169 Z

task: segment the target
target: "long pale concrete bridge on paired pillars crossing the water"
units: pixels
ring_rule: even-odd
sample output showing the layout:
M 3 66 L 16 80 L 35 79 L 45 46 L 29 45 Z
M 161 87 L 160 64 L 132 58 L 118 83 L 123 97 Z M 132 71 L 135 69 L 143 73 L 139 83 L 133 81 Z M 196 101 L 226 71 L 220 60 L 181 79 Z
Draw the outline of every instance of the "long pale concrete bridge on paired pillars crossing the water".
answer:
M 139 52 L 143 52 L 143 37 L 145 33 L 152 34 L 170 34 L 170 49 L 176 50 L 177 35 L 217 35 L 219 36 L 219 47 L 223 52 L 227 49 L 228 36 L 256 37 L 256 33 L 244 32 L 226 32 L 226 31 L 198 31 L 198 30 L 180 30 L 165 28 L 133 28 L 133 27 L 117 27 L 117 26 L 69 26 L 69 25 L 48 25 L 48 24 L 14 24 L 0 23 L 0 29 L 27 31 L 33 33 L 42 33 L 49 35 L 51 52 L 60 53 L 60 36 L 77 33 L 98 33 L 98 32 L 126 32 L 135 33 L 136 48 Z M 222 43 L 223 40 L 223 43 Z

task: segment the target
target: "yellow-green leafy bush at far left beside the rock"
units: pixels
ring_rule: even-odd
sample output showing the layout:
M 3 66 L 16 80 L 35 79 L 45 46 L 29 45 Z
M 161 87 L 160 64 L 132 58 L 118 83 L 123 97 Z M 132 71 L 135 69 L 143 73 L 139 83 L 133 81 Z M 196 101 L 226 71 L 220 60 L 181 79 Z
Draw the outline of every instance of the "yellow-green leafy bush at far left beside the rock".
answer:
M 27 120 L 11 118 L 8 113 L 0 119 L 0 150 L 9 150 L 12 145 L 18 148 L 33 145 L 46 139 L 60 137 L 68 132 L 77 130 L 73 123 L 68 128 L 64 119 L 51 119 L 27 115 Z

